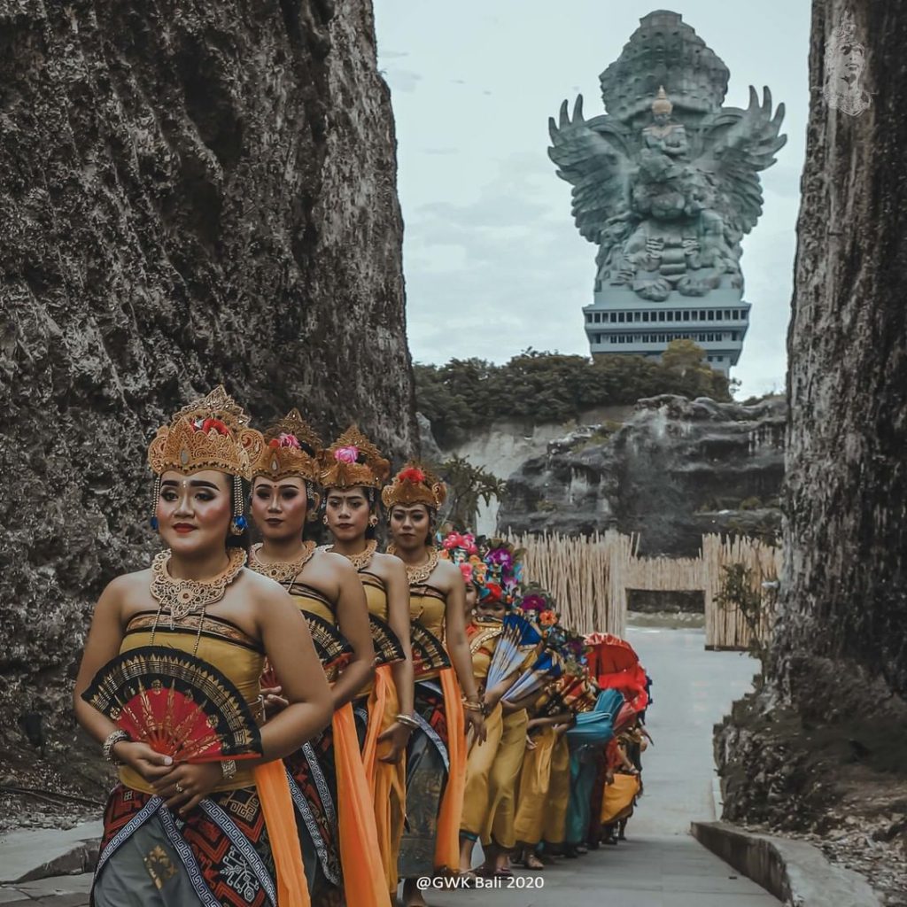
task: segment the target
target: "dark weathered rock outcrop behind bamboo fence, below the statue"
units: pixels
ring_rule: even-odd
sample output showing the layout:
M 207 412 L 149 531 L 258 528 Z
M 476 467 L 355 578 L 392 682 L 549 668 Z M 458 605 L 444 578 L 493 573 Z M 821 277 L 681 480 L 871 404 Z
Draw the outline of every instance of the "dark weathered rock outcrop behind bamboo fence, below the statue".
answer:
M 640 532 L 640 552 L 695 556 L 704 532 L 780 524 L 785 403 L 640 400 L 617 430 L 588 426 L 513 473 L 502 530 Z

